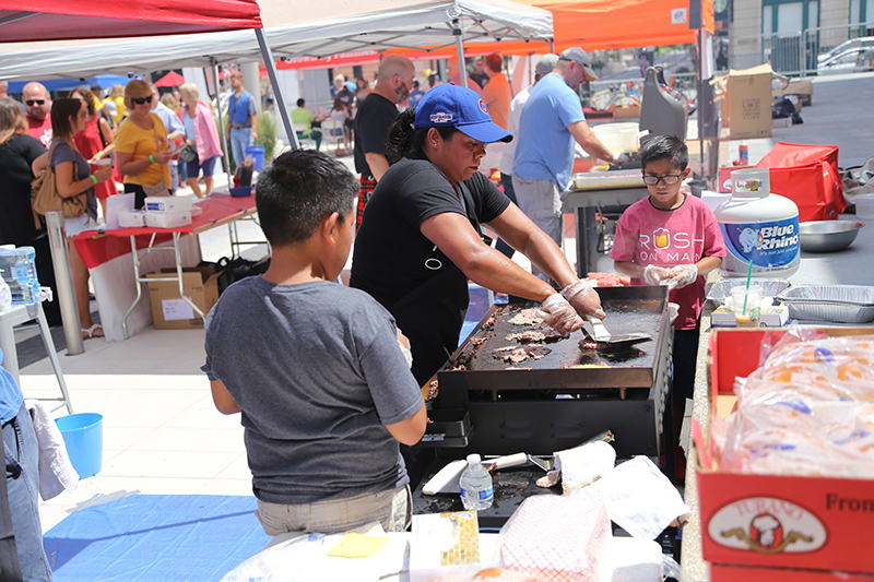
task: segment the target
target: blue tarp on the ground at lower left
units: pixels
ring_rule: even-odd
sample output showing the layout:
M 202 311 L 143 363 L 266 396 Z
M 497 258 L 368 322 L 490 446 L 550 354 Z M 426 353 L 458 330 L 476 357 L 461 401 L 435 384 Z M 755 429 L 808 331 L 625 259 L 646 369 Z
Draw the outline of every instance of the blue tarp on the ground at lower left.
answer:
M 43 536 L 56 582 L 210 581 L 270 542 L 255 497 L 135 495 L 71 513 Z

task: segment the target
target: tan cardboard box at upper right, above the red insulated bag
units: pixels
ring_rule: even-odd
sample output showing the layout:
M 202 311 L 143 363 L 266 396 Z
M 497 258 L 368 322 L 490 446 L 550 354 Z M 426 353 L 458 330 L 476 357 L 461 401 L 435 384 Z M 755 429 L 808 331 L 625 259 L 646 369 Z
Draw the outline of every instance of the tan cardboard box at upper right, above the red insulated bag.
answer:
M 768 138 L 771 134 L 771 81 L 768 63 L 729 71 L 714 83 L 721 93 L 722 126 L 730 128 L 732 140 Z

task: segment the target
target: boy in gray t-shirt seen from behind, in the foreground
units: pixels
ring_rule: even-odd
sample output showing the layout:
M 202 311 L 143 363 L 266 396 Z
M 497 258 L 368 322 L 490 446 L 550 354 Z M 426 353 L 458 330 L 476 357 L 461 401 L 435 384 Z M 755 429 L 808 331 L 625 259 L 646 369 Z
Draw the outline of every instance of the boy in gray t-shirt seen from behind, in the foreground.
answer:
M 225 290 L 206 318 L 213 401 L 241 412 L 258 516 L 270 535 L 409 525 L 398 443 L 425 432 L 422 393 L 391 314 L 333 283 L 352 245 L 358 182 L 296 150 L 258 179 L 270 269 Z

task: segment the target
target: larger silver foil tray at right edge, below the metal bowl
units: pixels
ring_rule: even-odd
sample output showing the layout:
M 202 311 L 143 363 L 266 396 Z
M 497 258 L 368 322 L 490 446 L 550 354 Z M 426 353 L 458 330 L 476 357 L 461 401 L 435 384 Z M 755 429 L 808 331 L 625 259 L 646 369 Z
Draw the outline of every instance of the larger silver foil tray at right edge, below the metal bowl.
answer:
M 866 285 L 796 285 L 777 296 L 789 317 L 836 323 L 874 321 L 874 287 Z

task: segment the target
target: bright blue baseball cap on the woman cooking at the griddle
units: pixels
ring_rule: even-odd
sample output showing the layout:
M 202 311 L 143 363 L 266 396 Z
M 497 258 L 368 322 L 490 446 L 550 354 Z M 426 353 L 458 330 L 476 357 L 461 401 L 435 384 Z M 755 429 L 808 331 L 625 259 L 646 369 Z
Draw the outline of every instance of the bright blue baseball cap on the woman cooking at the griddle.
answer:
M 488 115 L 488 108 L 473 91 L 452 84 L 432 88 L 416 107 L 416 129 L 456 128 L 477 142 L 509 142 L 512 134 Z

